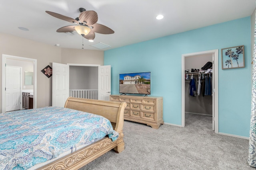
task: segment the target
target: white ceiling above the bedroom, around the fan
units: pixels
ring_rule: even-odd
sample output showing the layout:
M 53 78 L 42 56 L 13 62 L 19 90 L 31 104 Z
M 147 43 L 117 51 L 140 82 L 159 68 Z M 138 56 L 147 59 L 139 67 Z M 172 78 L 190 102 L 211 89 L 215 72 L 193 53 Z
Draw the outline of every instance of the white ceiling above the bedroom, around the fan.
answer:
M 98 13 L 97 23 L 115 31 L 109 35 L 95 33 L 93 43 L 84 39 L 84 49 L 98 50 L 90 45 L 101 42 L 111 46 L 102 49 L 108 50 L 244 18 L 252 14 L 256 4 L 255 0 L 1 0 L 0 32 L 49 45 L 60 44 L 62 48 L 81 49 L 81 35 L 56 32 L 72 23 L 45 12 L 75 19 L 80 14 L 79 8 L 94 10 Z M 164 18 L 156 20 L 158 14 Z

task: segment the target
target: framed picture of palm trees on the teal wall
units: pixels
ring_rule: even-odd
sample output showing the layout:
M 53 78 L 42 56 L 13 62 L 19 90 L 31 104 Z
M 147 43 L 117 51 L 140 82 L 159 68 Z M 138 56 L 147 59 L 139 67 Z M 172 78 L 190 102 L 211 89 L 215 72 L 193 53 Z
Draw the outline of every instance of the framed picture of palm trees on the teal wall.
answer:
M 222 69 L 243 68 L 244 45 L 221 49 Z

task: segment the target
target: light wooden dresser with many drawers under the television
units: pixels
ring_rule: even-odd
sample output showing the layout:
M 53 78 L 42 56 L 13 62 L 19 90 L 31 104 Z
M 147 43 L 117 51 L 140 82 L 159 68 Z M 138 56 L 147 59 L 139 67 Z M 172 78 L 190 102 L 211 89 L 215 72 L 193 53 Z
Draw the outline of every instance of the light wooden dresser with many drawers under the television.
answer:
M 164 124 L 162 97 L 110 95 L 110 101 L 127 103 L 124 109 L 124 120 L 144 123 L 154 129 Z

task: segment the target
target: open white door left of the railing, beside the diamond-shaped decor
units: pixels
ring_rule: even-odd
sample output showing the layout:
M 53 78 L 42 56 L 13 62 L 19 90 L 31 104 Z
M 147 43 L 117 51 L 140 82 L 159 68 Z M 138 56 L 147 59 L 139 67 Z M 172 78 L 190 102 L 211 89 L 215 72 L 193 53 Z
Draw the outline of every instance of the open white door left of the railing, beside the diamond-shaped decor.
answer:
M 52 63 L 52 106 L 64 107 L 69 97 L 69 65 Z

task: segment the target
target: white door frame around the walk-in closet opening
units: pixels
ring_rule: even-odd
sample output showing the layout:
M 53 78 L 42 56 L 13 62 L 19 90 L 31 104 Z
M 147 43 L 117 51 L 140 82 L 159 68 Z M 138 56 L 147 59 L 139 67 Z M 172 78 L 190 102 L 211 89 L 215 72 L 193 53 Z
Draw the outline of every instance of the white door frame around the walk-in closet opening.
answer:
M 203 55 L 203 54 L 214 54 L 214 127 L 215 127 L 215 133 L 219 133 L 219 121 L 218 121 L 218 49 L 215 50 L 209 50 L 209 51 L 201 51 L 196 53 L 189 53 L 189 54 L 182 54 L 181 58 L 181 72 L 182 72 L 182 79 L 181 79 L 181 126 L 185 127 L 185 79 L 184 79 L 184 70 L 185 70 L 185 57 L 192 57 L 196 55 Z

